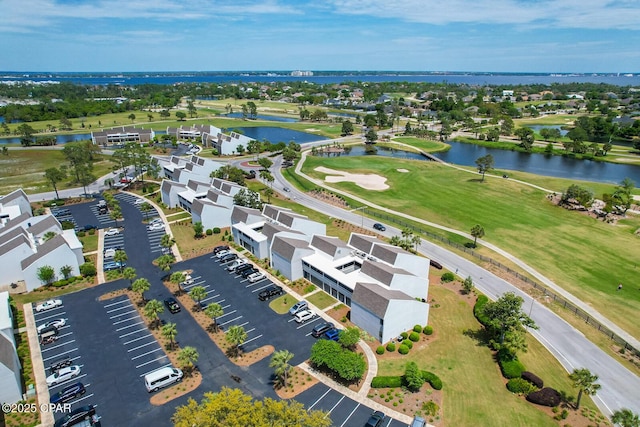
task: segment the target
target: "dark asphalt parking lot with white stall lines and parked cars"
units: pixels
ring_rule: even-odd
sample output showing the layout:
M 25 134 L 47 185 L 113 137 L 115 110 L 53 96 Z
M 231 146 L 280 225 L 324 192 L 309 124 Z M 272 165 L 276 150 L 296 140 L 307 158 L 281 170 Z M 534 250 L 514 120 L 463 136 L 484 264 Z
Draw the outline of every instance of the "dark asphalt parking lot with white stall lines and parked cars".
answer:
M 116 197 L 123 202 L 121 207 L 126 226 L 120 234 L 105 238 L 104 247 L 123 247 L 129 256 L 127 264 L 136 268 L 138 277 L 145 277 L 151 283 L 151 289 L 145 293 L 145 297 L 163 301 L 171 295 L 162 284 L 162 277 L 166 273 L 153 266 L 151 261 L 160 255 L 159 239 L 164 231 L 149 231 L 142 222 L 146 214 L 152 218 L 157 213 L 141 212 L 135 196 L 120 193 Z M 84 224 L 88 223 L 86 218 L 89 215 L 97 218 L 91 208 L 96 203 L 72 205 L 68 209 L 78 223 Z M 217 302 L 223 307 L 224 314 L 218 319 L 223 330 L 228 330 L 232 325 L 245 328 L 248 337 L 242 345 L 244 351 L 273 345 L 276 350 L 286 349 L 294 353 L 292 365 L 308 359 L 315 342 L 310 335 L 311 330 L 323 320 L 316 317 L 299 325 L 289 314 L 279 315 L 272 311 L 268 307 L 269 301 L 258 300 L 258 293 L 271 285 L 271 281 L 263 279 L 249 283 L 247 279 L 228 272 L 211 255 L 175 264 L 171 272 L 183 270 L 191 270 L 191 276 L 195 279 L 189 288 L 197 285 L 205 287 L 207 296 L 203 303 Z M 62 308 L 36 315 L 37 324 L 50 316 L 68 319 L 69 326 L 60 331 L 60 339 L 45 346 L 43 358 L 47 366 L 47 361 L 69 354 L 74 358 L 74 363 L 81 366 L 81 375 L 86 376 L 80 381 L 87 387 L 87 392 L 82 396 L 83 400 L 72 401 L 74 405 L 97 405 L 96 410 L 102 417 L 103 425 L 169 426 L 176 406 L 185 404 L 189 397 L 200 400 L 205 392 L 217 391 L 223 386 L 240 388 L 259 398 L 277 399 L 271 386 L 273 370 L 268 366 L 269 358 L 250 367 L 232 364 L 187 313 L 191 307 L 182 307 L 177 314 L 165 310 L 160 317 L 165 322 L 176 323 L 176 341 L 181 346 L 191 345 L 198 350 L 200 358 L 197 366 L 203 375 L 203 384 L 188 396 L 163 406 L 152 406 L 143 376 L 168 365 L 169 361 L 128 299 L 98 299 L 111 290 L 128 285 L 128 281 L 120 280 L 69 294 L 63 297 Z M 335 426 L 364 425 L 373 412 L 323 384 L 305 391 L 296 400 L 307 408 L 330 411 Z M 387 418 L 383 425 L 404 424 Z

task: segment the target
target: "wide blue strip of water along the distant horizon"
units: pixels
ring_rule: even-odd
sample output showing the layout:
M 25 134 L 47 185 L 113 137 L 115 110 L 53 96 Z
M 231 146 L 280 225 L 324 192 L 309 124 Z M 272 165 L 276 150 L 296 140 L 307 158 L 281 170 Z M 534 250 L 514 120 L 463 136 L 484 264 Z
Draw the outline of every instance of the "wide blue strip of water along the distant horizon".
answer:
M 331 75 L 315 75 L 293 77 L 287 73 L 8 73 L 0 76 L 2 81 L 55 81 L 87 85 L 125 85 L 140 84 L 172 85 L 176 83 L 242 83 L 242 82 L 291 82 L 308 81 L 317 84 L 335 84 L 342 82 L 393 82 L 412 83 L 451 83 L 468 85 L 519 85 L 519 84 L 551 84 L 551 83 L 607 83 L 618 86 L 640 85 L 640 75 L 618 74 L 490 74 L 490 73 L 333 73 Z

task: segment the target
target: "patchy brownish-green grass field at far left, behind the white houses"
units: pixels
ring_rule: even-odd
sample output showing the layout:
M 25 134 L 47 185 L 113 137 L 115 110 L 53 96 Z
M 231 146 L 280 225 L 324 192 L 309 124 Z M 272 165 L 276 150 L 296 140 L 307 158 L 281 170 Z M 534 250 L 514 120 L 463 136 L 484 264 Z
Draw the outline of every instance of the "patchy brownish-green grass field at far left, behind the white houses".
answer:
M 67 163 L 60 150 L 9 149 L 8 156 L 0 155 L 0 194 L 7 194 L 18 188 L 22 188 L 27 194 L 53 191 L 53 187 L 44 178 L 44 171 Z M 111 171 L 112 166 L 108 156 L 101 156 L 93 165 L 93 174 L 98 177 L 105 175 Z M 67 179 L 58 185 L 58 190 L 78 186 Z

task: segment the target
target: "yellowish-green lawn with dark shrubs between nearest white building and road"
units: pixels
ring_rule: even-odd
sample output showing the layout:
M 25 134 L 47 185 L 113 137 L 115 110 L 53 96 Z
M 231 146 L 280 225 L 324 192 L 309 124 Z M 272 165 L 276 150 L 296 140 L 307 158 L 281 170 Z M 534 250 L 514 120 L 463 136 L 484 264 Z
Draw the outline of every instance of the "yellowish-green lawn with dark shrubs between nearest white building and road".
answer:
M 535 405 L 506 389 L 492 352 L 477 337 L 480 324 L 473 317 L 470 304 L 454 291 L 437 285 L 429 288 L 429 298 L 440 305 L 429 314 L 435 340 L 422 349 L 414 348 L 407 356 L 395 353 L 392 359 L 382 359 L 378 375 L 401 375 L 410 360 L 438 375 L 444 384 L 445 425 L 558 425 Z M 527 369 L 543 378 L 545 384 L 573 394 L 560 364 L 534 339 L 528 342 L 529 353 L 522 358 Z M 594 407 L 590 401 L 584 402 Z

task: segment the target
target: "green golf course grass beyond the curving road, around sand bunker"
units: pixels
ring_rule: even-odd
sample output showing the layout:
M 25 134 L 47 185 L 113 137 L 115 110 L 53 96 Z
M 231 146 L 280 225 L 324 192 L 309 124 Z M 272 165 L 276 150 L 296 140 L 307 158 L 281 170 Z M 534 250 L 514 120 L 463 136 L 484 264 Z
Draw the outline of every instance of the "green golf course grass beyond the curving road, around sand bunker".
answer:
M 310 157 L 304 171 L 324 178 L 313 170 L 322 165 L 385 176 L 390 185 L 385 191 L 366 191 L 352 183 L 334 185 L 381 206 L 465 232 L 480 224 L 486 240 L 525 260 L 640 336 L 640 325 L 634 320 L 640 303 L 640 292 L 634 286 L 640 245 L 634 232 L 640 228 L 640 219 L 630 216 L 612 226 L 558 208 L 546 200 L 543 191 L 512 180 L 480 182 L 477 174 L 432 162 L 399 162 L 382 157 Z M 398 172 L 400 164 L 410 173 Z M 616 292 L 620 282 L 627 286 Z

